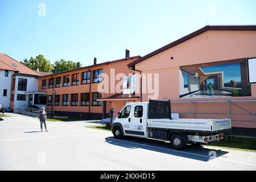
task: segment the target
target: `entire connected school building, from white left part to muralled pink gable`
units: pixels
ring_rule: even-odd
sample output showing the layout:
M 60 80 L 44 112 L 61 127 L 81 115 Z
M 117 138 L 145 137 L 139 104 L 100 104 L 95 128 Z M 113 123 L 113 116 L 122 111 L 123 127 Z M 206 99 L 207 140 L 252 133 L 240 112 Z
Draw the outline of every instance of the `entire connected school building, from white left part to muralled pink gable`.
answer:
M 36 89 L 22 93 L 26 103 L 46 104 L 55 114 L 101 119 L 111 107 L 115 117 L 128 102 L 171 100 L 180 118 L 231 118 L 233 131 L 256 133 L 256 81 L 249 73 L 256 71 L 249 68 L 255 57 L 256 26 L 205 26 L 143 57 L 130 57 L 126 50 L 123 59 L 100 64 L 94 59 L 88 67 L 78 63 L 77 69 L 40 76 L 8 69 L 15 73 L 16 88 L 25 85 L 19 76 L 33 78 Z M 6 65 L 1 69 L 7 74 Z

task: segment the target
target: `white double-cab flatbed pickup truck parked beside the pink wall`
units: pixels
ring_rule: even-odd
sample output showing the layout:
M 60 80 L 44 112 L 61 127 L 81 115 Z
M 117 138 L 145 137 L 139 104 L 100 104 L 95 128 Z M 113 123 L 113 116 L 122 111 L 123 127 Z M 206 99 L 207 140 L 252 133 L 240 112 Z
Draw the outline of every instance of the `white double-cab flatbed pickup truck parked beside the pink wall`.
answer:
M 170 141 L 181 150 L 187 143 L 209 143 L 229 133 L 231 119 L 172 119 L 170 101 L 126 104 L 112 124 L 115 138 L 124 136 Z

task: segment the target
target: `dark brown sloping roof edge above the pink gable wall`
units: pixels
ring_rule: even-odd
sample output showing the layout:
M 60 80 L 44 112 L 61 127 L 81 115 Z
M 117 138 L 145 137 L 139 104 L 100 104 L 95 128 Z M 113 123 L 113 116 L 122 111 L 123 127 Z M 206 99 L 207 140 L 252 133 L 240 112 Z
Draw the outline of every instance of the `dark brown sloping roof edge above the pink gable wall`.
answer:
M 133 67 L 135 64 L 138 64 L 141 61 L 144 61 L 152 56 L 155 56 L 160 52 L 166 51 L 167 49 L 170 49 L 171 47 L 177 46 L 177 44 L 183 43 L 186 40 L 189 40 L 197 35 L 203 34 L 204 32 L 206 32 L 208 30 L 256 31 L 256 26 L 255 25 L 251 25 L 251 26 L 236 26 L 236 25 L 234 25 L 234 26 L 205 26 L 195 32 L 192 32 L 191 34 L 189 34 L 187 36 L 184 36 L 183 38 L 181 38 L 179 40 L 176 40 L 175 42 L 172 42 L 162 48 L 159 48 L 156 51 L 148 53 L 146 56 L 143 56 L 140 59 L 129 63 L 127 66 Z

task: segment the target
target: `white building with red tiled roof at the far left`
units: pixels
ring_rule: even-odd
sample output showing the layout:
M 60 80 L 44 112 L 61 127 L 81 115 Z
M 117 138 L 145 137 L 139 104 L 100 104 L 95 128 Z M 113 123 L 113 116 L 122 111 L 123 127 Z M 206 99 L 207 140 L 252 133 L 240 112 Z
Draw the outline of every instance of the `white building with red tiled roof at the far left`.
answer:
M 36 79 L 41 73 L 0 53 L 0 104 L 11 109 L 18 106 L 45 106 L 46 94 L 38 92 Z

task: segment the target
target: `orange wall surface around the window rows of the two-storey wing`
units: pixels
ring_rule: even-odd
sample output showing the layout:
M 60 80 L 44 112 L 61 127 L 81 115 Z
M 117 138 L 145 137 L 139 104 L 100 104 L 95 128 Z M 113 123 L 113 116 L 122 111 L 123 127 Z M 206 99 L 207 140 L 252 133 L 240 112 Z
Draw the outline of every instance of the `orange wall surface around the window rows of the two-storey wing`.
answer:
M 91 73 L 91 82 L 93 79 L 93 71 L 96 69 L 102 69 L 103 73 L 106 73 L 110 77 L 110 69 L 115 70 L 115 74 L 117 73 L 125 73 L 125 75 L 128 75 L 129 73 L 132 73 L 132 71 L 127 67 L 127 64 L 131 63 L 134 60 L 137 60 L 139 57 L 134 57 L 134 58 L 128 58 L 128 59 L 123 59 L 121 61 L 113 61 L 110 62 L 109 64 L 101 64 L 101 65 L 96 65 L 94 67 L 90 67 Z M 89 84 L 82 85 L 81 84 L 81 78 L 82 72 L 89 71 L 88 68 L 82 68 L 82 69 L 77 69 L 75 71 L 69 71 L 65 73 L 59 73 L 56 75 L 53 75 L 52 77 L 60 77 L 61 76 L 61 87 L 60 88 L 54 88 L 55 90 L 55 95 L 62 95 L 62 94 L 69 94 L 69 106 L 47 106 L 47 110 L 55 110 L 55 111 L 69 111 L 69 112 L 81 112 L 81 113 L 88 113 L 89 112 L 89 106 L 80 106 L 80 93 L 89 93 Z M 72 74 L 75 73 L 80 73 L 79 76 L 79 81 L 80 85 L 73 85 L 72 86 Z M 63 86 L 63 77 L 69 75 L 69 85 L 70 86 Z M 40 77 L 39 78 L 39 85 L 38 89 L 39 92 L 46 92 L 47 96 L 52 95 L 52 88 L 48 89 L 48 79 L 51 78 L 51 76 L 46 76 L 46 77 Z M 47 89 L 42 89 L 42 80 L 47 79 Z M 118 81 L 113 81 L 111 79 L 108 80 L 108 85 L 110 85 L 110 82 L 112 84 L 117 84 Z M 93 92 L 102 92 L 100 89 L 101 87 L 99 86 L 101 83 L 93 83 L 91 84 L 91 93 Z M 54 82 L 55 85 L 55 82 Z M 79 93 L 79 106 L 71 106 L 71 94 L 74 93 Z M 104 93 L 102 92 L 102 98 L 112 96 L 113 94 L 116 94 L 115 90 L 113 93 Z M 62 102 L 62 96 L 60 97 L 60 103 Z M 54 100 L 53 100 L 54 103 Z M 109 113 L 110 107 L 112 104 L 110 102 L 106 102 L 106 113 Z M 90 95 L 90 112 L 91 113 L 102 113 L 102 106 L 93 106 L 92 105 L 92 94 Z

